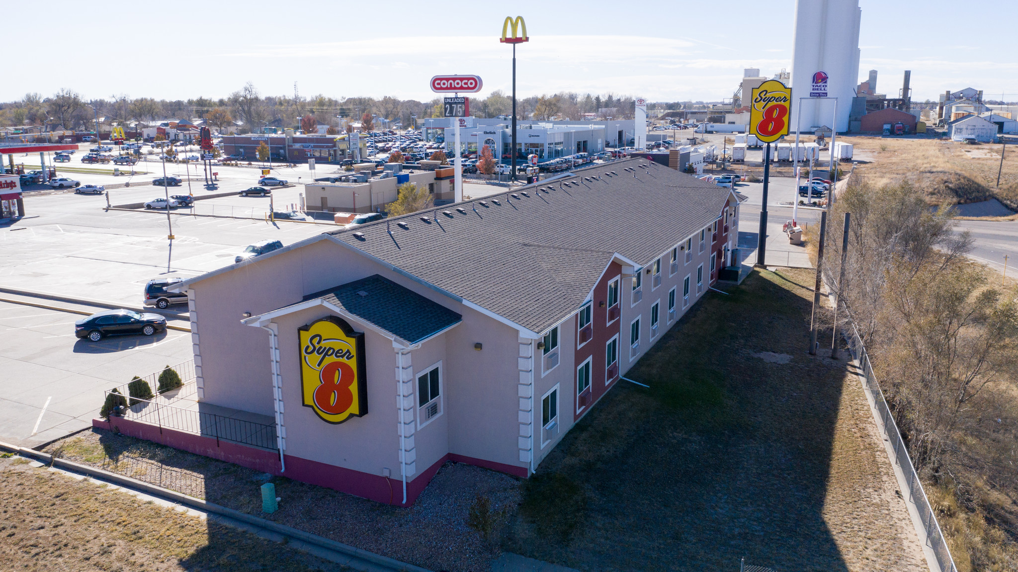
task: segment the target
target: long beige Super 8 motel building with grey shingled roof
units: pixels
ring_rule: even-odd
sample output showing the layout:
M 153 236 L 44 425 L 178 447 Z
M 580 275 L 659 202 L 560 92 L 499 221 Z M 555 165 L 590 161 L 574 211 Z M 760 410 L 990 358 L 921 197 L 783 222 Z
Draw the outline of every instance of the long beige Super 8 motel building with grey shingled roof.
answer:
M 383 503 L 447 460 L 526 477 L 737 227 L 731 190 L 630 159 L 324 233 L 180 285 L 199 399 L 275 424 L 229 460 Z

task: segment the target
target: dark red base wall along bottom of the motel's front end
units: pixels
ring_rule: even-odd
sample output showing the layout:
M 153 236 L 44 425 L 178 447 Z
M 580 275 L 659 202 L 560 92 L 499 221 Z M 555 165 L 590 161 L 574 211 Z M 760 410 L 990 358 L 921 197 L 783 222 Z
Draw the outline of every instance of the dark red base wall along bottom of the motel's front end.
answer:
M 276 451 L 256 449 L 223 440 L 219 440 L 217 443 L 213 437 L 204 437 L 166 427 L 160 430 L 157 425 L 150 425 L 119 417 L 111 417 L 108 421 L 105 419 L 93 419 L 92 426 L 109 431 L 116 428 L 122 435 L 128 437 L 152 441 L 153 443 L 219 459 L 242 467 L 268 472 L 277 476 L 285 476 L 309 484 L 328 487 L 341 493 L 397 506 L 412 505 L 446 461 L 485 467 L 522 478 L 528 476 L 527 467 L 507 465 L 505 463 L 449 453 L 425 469 L 423 472 L 414 476 L 412 480 L 407 481 L 406 503 L 404 504 L 402 502 L 403 481 L 400 478 L 369 474 L 292 455 L 284 455 L 283 457 L 286 461 L 286 471 L 284 472 L 281 470 L 279 453 Z

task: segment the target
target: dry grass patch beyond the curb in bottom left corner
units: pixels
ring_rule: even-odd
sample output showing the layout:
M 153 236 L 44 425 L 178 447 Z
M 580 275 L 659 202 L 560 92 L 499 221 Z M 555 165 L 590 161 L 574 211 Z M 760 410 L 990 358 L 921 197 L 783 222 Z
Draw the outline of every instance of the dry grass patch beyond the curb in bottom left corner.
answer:
M 0 503 L 3 570 L 349 570 L 19 457 L 0 459 Z

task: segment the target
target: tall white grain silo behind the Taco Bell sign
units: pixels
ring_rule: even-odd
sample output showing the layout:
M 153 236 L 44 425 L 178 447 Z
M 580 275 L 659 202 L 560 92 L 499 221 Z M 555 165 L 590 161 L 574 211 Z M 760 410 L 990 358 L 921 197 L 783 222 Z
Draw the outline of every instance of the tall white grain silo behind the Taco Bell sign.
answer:
M 832 126 L 832 98 L 838 98 L 834 127 L 839 132 L 848 130 L 848 114 L 859 80 L 860 16 L 859 0 L 796 0 L 790 118 L 793 132 Z M 806 97 L 809 100 L 799 100 Z M 799 104 L 802 119 L 796 126 Z

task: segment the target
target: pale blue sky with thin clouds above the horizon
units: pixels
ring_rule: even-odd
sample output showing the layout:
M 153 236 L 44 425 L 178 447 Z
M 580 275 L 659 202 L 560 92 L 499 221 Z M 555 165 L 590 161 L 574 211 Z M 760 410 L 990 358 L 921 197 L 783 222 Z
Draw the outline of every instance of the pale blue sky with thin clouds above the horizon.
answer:
M 913 98 L 920 101 L 965 87 L 1018 101 L 1018 63 L 1006 43 L 1018 2 L 973 5 L 986 11 L 984 31 L 977 27 L 980 15 L 956 1 L 859 4 L 860 77 L 878 69 L 879 91 L 897 94 L 902 71 L 911 69 Z M 508 14 L 492 2 L 56 0 L 41 12 L 29 2 L 8 2 L 6 44 L 18 57 L 4 62 L 0 101 L 61 88 L 86 98 L 218 98 L 247 81 L 263 95 L 292 95 L 296 81 L 302 96 L 429 100 L 428 79 L 440 73 L 480 75 L 483 97 L 511 85 L 511 48 L 498 41 L 506 15 L 522 15 L 531 38 L 517 48 L 520 96 L 574 91 L 719 100 L 731 97 L 744 67 L 767 75 L 791 67 L 794 0 L 729 0 L 710 9 L 687 1 L 516 5 L 519 11 Z M 963 34 L 930 32 L 945 30 L 951 13 L 968 22 Z M 102 39 L 92 42 L 95 54 L 84 38 Z

